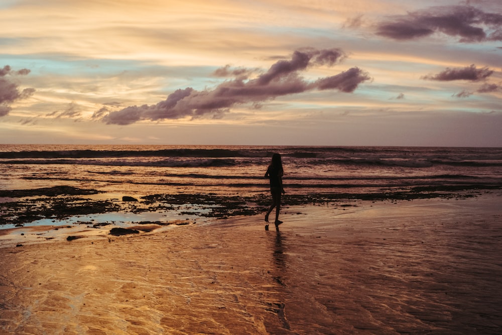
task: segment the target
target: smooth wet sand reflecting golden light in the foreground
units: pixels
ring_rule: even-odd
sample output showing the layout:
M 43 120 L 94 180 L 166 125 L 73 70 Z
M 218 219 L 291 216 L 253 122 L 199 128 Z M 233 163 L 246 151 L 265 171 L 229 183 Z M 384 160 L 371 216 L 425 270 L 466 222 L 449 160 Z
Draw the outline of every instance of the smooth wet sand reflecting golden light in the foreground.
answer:
M 0 248 L 0 333 L 500 333 L 500 200 L 291 206 L 280 232 L 242 216 Z

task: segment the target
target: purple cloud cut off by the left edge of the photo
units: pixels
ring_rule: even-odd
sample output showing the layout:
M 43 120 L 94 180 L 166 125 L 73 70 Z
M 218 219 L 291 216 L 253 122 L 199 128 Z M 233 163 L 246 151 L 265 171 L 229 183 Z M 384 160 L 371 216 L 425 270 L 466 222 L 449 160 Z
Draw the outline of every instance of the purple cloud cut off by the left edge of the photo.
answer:
M 4 117 L 9 114 L 12 109 L 11 103 L 17 100 L 25 99 L 35 92 L 34 88 L 25 88 L 20 91 L 18 84 L 7 77 L 27 75 L 28 73 L 30 73 L 29 69 L 13 71 L 9 65 L 0 68 L 0 117 Z

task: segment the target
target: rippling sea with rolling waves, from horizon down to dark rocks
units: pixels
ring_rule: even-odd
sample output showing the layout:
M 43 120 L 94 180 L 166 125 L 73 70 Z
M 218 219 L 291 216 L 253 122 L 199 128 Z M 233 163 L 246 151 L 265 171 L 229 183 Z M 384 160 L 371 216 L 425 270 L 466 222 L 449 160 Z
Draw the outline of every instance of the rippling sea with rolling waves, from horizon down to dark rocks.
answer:
M 502 148 L 0 145 L 0 190 L 52 186 L 151 194 L 268 194 L 279 152 L 287 194 L 502 186 Z

